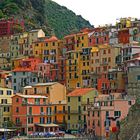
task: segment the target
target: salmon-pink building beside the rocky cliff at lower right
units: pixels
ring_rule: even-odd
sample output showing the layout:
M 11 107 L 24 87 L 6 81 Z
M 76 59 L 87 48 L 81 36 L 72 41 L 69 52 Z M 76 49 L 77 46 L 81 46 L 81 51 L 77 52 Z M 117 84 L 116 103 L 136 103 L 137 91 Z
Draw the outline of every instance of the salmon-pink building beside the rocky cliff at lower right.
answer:
M 122 93 L 99 95 L 94 104 L 87 105 L 87 131 L 102 137 L 109 135 L 110 130 L 118 129 L 119 121 L 134 103 L 134 99 Z

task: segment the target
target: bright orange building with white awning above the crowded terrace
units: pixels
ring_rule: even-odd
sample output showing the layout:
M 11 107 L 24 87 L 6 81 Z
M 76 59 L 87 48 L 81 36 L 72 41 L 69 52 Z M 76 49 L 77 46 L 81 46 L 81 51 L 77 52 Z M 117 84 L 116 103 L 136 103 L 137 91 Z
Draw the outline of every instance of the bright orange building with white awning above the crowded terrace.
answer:
M 52 105 L 46 96 L 16 94 L 12 97 L 12 103 L 12 120 L 21 134 L 54 132 L 65 123 L 63 102 Z

